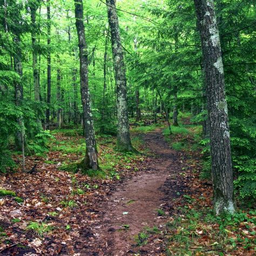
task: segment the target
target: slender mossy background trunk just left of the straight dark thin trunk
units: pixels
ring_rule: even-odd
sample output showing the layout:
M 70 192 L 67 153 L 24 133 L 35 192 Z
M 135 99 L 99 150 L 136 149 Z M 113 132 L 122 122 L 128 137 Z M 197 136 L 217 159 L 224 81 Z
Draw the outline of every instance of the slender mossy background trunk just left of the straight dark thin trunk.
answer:
M 40 102 L 40 90 L 39 90 L 39 71 L 38 71 L 38 50 L 37 50 L 37 28 L 36 28 L 36 11 L 39 5 L 38 2 L 33 2 L 30 5 L 31 11 L 31 23 L 32 23 L 32 31 L 31 31 L 31 40 L 32 40 L 32 66 L 33 66 L 33 87 L 34 87 L 34 95 L 35 95 L 35 102 Z M 40 118 L 37 114 L 37 124 L 40 128 L 42 128 L 42 123 Z

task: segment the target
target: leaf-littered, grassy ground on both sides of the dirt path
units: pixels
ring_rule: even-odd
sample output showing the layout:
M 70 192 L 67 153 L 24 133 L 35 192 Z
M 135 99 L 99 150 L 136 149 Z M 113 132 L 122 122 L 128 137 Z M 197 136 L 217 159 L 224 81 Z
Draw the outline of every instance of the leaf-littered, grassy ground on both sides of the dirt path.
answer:
M 153 125 L 142 129 L 142 133 L 154 129 Z M 204 163 L 199 126 L 184 121 L 172 129 L 172 134 L 167 131 L 163 134 L 173 149 L 176 143 L 184 145 L 176 148 L 176 172 L 160 188 L 165 197 L 155 212 L 161 224 L 145 226 L 134 235 L 129 254 L 151 255 L 155 251 L 156 255 L 254 255 L 253 207 L 238 201 L 240 210 L 233 216 L 214 217 L 212 213 L 212 184 L 201 178 Z M 82 134 L 71 129 L 54 131 L 49 152 L 28 157 L 26 169 L 36 163 L 35 173 L 16 170 L 2 176 L 1 254 L 79 255 L 88 243 L 97 251 L 96 234 L 90 228 L 102 221 L 97 206 L 110 198 L 118 184 L 140 177 L 145 169 L 148 172 L 153 158 L 157 157 L 159 163 L 162 159 L 145 148 L 138 129 L 133 134 L 133 145 L 143 154 L 120 153 L 114 149 L 112 136 L 98 137 L 102 170 L 80 173 L 73 163 L 83 157 Z M 19 156 L 14 158 L 19 163 Z M 129 202 L 127 206 L 136 204 Z M 125 235 L 131 228 L 124 223 L 117 232 Z

